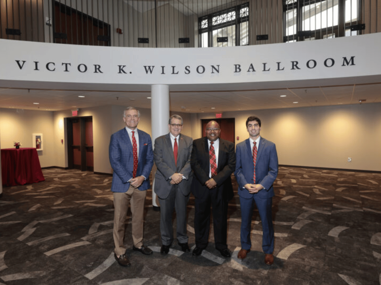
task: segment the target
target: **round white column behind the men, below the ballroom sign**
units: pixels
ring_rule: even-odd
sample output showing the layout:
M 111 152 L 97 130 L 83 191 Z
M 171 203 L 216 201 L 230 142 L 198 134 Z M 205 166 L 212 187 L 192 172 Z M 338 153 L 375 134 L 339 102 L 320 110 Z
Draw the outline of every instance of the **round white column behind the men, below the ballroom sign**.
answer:
M 168 133 L 169 120 L 169 86 L 164 84 L 154 84 L 151 86 L 151 127 L 152 144 L 157 137 Z M 153 168 L 155 175 L 156 166 Z M 155 176 L 154 176 L 155 177 Z M 155 179 L 152 177 L 152 206 L 158 207 L 156 194 L 154 191 Z

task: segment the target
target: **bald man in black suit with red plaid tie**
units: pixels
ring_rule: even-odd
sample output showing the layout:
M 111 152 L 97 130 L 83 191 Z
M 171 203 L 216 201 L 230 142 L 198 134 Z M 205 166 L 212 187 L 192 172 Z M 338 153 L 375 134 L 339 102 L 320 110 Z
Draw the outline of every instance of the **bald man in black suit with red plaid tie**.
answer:
M 216 121 L 206 126 L 207 136 L 193 141 L 191 167 L 194 172 L 191 191 L 195 196 L 194 231 L 200 255 L 208 245 L 210 206 L 213 211 L 215 246 L 222 256 L 230 257 L 227 249 L 227 203 L 233 198 L 231 174 L 235 169 L 234 144 L 220 139 Z

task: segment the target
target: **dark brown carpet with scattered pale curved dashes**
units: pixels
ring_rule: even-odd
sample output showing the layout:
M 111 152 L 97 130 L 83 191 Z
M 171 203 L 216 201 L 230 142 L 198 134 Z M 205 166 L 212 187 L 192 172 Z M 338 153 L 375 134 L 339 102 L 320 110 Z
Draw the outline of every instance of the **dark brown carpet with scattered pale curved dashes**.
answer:
M 210 244 L 201 256 L 174 242 L 160 254 L 160 213 L 147 192 L 145 256 L 125 244 L 131 267 L 114 259 L 112 177 L 44 169 L 46 181 L 4 187 L 0 199 L 0 284 L 381 284 L 381 174 L 280 167 L 275 181 L 275 261 L 264 264 L 262 228 L 253 216 L 252 248 L 240 249 L 240 205 L 229 202 L 228 247 L 223 258 Z M 236 182 L 233 182 L 236 189 Z M 194 198 L 188 204 L 194 247 Z

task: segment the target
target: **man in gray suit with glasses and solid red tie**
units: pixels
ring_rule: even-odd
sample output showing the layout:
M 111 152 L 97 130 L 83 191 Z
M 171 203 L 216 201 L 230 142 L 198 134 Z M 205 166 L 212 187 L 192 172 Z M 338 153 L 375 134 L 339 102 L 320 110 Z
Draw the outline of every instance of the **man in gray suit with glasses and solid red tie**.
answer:
M 155 139 L 154 161 L 157 166 L 154 191 L 160 202 L 160 253 L 169 252 L 173 241 L 172 214 L 176 209 L 177 241 L 183 252 L 190 252 L 187 236 L 187 203 L 191 192 L 192 170 L 190 165 L 192 142 L 180 134 L 182 118 L 169 119 L 170 132 Z

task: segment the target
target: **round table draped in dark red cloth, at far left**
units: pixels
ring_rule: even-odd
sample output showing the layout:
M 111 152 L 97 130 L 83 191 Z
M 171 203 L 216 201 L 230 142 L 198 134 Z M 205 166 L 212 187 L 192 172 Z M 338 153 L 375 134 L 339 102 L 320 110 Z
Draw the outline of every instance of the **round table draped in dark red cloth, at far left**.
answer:
M 24 185 L 45 181 L 37 149 L 33 147 L 2 149 L 1 170 L 3 186 Z

